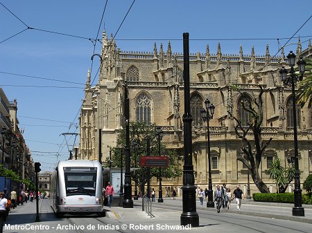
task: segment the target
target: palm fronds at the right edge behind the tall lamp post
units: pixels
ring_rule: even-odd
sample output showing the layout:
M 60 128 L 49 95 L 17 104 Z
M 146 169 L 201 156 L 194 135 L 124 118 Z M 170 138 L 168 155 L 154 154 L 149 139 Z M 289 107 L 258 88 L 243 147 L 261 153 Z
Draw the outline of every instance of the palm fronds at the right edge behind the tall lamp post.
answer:
M 301 107 L 308 102 L 308 108 L 312 106 L 312 59 L 306 59 L 306 78 L 299 82 L 300 88 L 297 91 L 297 103 Z

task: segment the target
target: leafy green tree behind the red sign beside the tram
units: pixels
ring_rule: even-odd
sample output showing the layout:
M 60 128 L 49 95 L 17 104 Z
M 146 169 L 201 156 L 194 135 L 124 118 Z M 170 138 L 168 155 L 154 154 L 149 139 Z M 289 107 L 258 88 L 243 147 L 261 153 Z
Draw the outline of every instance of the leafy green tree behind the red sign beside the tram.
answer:
M 146 156 L 146 142 L 147 138 L 150 138 L 150 156 L 159 156 L 159 144 L 156 136 L 156 125 L 146 124 L 144 122 L 130 122 L 130 166 L 137 167 L 136 172 L 131 173 L 131 179 L 137 182 L 137 185 L 141 188 L 141 184 L 146 184 L 146 176 L 143 180 L 143 173 L 145 169 L 139 167 L 139 158 Z M 112 167 L 120 167 L 121 156 L 123 156 L 123 166 L 125 166 L 125 127 L 119 132 L 117 138 L 116 148 L 112 148 Z M 160 145 L 161 156 L 168 156 L 168 167 L 162 168 L 162 178 L 175 178 L 182 175 L 182 170 L 178 167 L 178 155 L 174 149 L 167 149 L 164 143 Z M 135 162 L 135 158 L 137 161 Z M 107 158 L 107 162 L 109 158 Z M 135 165 L 137 164 L 137 165 Z M 153 176 L 159 177 L 159 167 L 150 167 L 150 178 Z M 142 190 L 141 190 L 142 192 Z

